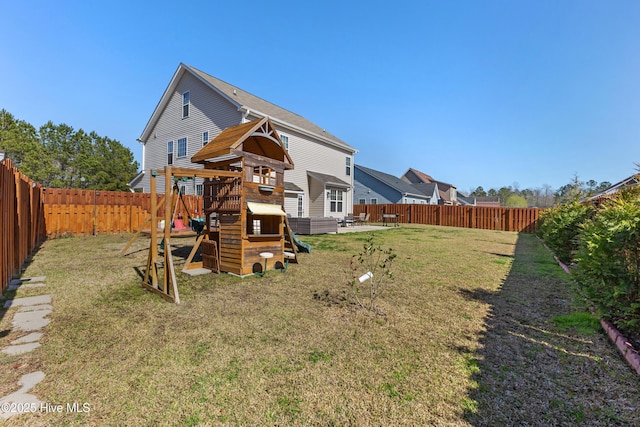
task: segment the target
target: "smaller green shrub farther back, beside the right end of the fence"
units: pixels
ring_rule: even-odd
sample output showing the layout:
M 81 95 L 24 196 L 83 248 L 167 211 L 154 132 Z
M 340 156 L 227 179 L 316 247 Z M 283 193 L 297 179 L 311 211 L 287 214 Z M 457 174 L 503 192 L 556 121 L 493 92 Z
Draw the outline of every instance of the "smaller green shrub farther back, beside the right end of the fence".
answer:
M 545 209 L 538 220 L 538 235 L 562 262 L 569 264 L 578 249 L 580 226 L 593 212 L 593 207 L 577 201 Z

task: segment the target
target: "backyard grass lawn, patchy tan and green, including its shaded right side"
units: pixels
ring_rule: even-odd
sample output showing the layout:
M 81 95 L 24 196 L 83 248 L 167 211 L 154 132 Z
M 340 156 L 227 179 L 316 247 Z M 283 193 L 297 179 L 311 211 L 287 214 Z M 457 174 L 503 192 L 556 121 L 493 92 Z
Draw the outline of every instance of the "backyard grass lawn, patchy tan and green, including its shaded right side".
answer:
M 47 287 L 5 295 L 46 291 L 52 322 L 33 353 L 0 356 L 0 392 L 41 369 L 41 400 L 91 411 L 7 425 L 640 423 L 640 381 L 575 314 L 584 309 L 534 236 L 377 233 L 398 255 L 384 315 L 352 304 L 347 286 L 367 237 L 302 236 L 312 253 L 263 278 L 189 277 L 176 258 L 180 305 L 139 285 L 146 238 L 125 257 L 130 235 L 47 241 L 24 273 Z M 11 317 L 3 345 L 18 336 Z

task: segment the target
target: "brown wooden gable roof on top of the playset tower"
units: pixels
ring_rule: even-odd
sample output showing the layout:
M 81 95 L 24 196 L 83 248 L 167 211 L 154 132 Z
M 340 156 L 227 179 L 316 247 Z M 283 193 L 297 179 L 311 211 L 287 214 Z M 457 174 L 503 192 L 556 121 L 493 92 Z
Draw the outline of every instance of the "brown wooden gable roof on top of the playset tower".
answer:
M 206 163 L 215 158 L 237 156 L 237 150 L 279 160 L 293 168 L 287 150 L 268 117 L 230 126 L 191 157 L 193 163 Z

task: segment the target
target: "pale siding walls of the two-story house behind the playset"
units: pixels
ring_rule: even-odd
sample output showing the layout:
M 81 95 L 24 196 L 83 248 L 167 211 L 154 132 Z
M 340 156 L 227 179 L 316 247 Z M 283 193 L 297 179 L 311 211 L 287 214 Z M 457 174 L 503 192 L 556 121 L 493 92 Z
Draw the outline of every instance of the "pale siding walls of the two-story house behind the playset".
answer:
M 186 68 L 179 68 L 179 73 L 174 76 L 170 87 L 171 94 L 163 95 L 161 103 L 157 108 L 164 108 L 162 111 L 156 110 L 154 117 L 157 121 L 147 126 L 143 132 L 143 164 L 145 174 L 136 185 L 137 189 L 149 192 L 149 171 L 151 169 L 162 169 L 167 164 L 167 143 L 174 142 L 173 166 L 202 168 L 202 165 L 191 163 L 191 157 L 202 147 L 202 133 L 209 132 L 209 140 L 215 138 L 222 130 L 241 124 L 246 121 L 262 119 L 258 113 L 251 113 L 251 106 L 248 112 L 239 109 L 234 104 L 232 94 L 229 98 L 212 89 L 195 74 Z M 175 84 L 175 87 L 173 86 Z M 213 83 L 212 83 L 213 84 Z M 169 90 L 169 89 L 168 89 Z M 189 91 L 190 107 L 189 117 L 182 118 L 182 95 Z M 235 94 L 235 91 L 234 91 Z M 287 113 L 293 116 L 292 113 Z M 299 116 L 298 116 L 299 117 Z M 313 183 L 307 177 L 307 171 L 319 172 L 333 175 L 336 178 L 348 183 L 351 188 L 354 185 L 354 154 L 355 150 L 343 143 L 324 141 L 323 137 L 314 137 L 309 134 L 309 130 L 298 129 L 295 126 L 283 124 L 278 117 L 271 117 L 276 130 L 289 138 L 289 155 L 294 163 L 294 169 L 285 171 L 285 181 L 292 182 L 304 191 L 304 216 L 329 216 L 329 203 L 323 188 L 312 188 L 318 183 Z M 327 134 L 328 135 L 328 134 Z M 187 138 L 187 154 L 177 158 L 178 139 Z M 346 174 L 346 158 L 350 159 L 351 174 Z M 161 177 L 159 177 L 161 178 Z M 187 194 L 194 194 L 196 186 L 202 183 L 202 179 L 191 180 L 184 184 Z M 322 187 L 320 185 L 320 187 Z M 164 192 L 164 180 L 158 179 L 157 189 L 159 193 Z M 323 197 L 319 197 L 322 192 Z M 297 198 L 287 198 L 287 212 L 291 209 L 291 216 L 297 216 Z M 294 205 L 295 202 L 295 205 Z M 343 195 L 343 215 L 353 211 L 353 196 L 345 191 Z M 341 216 L 337 213 L 331 216 Z

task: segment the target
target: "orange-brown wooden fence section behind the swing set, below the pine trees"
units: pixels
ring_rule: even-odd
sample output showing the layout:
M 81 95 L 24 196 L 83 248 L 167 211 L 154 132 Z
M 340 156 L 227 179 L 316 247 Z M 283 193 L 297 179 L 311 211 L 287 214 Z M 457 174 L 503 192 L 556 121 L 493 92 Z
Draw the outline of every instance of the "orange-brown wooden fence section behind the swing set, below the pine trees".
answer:
M 158 195 L 158 203 L 164 197 Z M 183 195 L 191 214 L 202 209 L 201 196 Z M 44 216 L 47 236 L 95 235 L 130 233 L 140 230 L 150 216 L 151 195 L 118 191 L 44 190 Z M 158 209 L 164 216 L 164 207 Z M 187 221 L 187 211 L 181 202 L 175 209 L 175 218 Z

